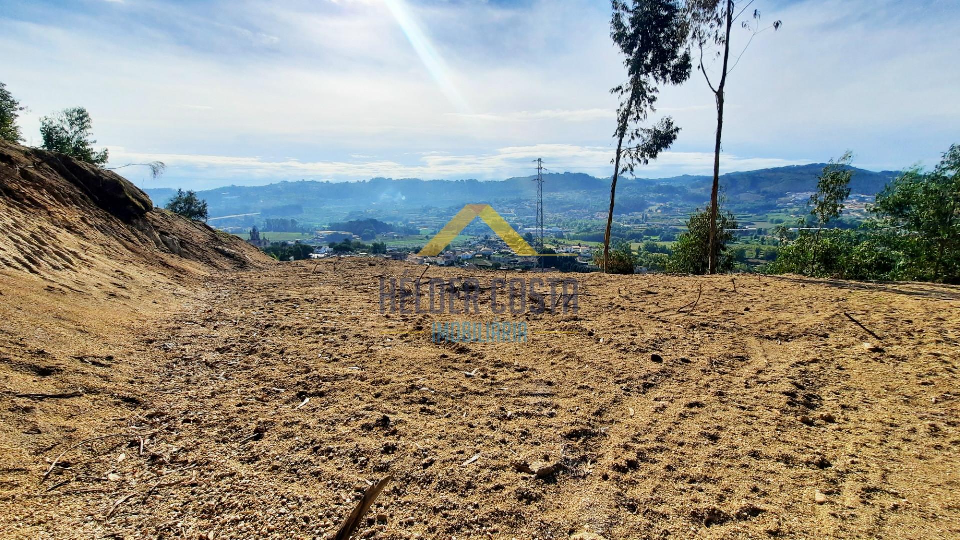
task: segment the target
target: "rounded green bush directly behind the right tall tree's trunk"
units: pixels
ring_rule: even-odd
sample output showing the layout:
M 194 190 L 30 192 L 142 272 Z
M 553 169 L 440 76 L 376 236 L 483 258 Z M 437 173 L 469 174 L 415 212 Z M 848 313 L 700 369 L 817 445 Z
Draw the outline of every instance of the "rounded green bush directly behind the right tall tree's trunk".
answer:
M 697 211 L 686 222 L 686 233 L 681 233 L 673 245 L 673 257 L 667 263 L 668 272 L 704 275 L 709 270 L 710 211 Z M 727 244 L 733 239 L 736 218 L 729 211 L 717 212 L 716 258 L 718 272 L 730 272 L 734 259 L 730 257 Z

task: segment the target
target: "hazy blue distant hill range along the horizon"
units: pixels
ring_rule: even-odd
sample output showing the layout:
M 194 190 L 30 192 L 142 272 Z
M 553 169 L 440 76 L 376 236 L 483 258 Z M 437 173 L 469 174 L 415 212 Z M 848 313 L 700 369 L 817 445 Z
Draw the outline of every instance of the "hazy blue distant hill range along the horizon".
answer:
M 728 205 L 741 210 L 777 207 L 787 193 L 816 189 L 823 163 L 728 173 L 721 177 Z M 893 171 L 873 172 L 853 168 L 852 192 L 876 194 L 893 180 Z M 259 214 L 260 217 L 296 217 L 308 222 L 358 217 L 367 210 L 447 209 L 466 203 L 530 202 L 536 195 L 535 177 L 503 181 L 476 180 L 392 180 L 374 178 L 365 182 L 281 182 L 279 184 L 230 185 L 199 192 L 207 201 L 211 216 Z M 545 174 L 543 190 L 553 211 L 599 210 L 610 193 L 610 179 L 583 173 Z M 678 176 L 665 179 L 624 178 L 617 188 L 621 211 L 642 211 L 651 204 L 669 203 L 688 207 L 703 205 L 709 198 L 711 177 Z M 148 189 L 162 206 L 176 193 L 172 188 Z

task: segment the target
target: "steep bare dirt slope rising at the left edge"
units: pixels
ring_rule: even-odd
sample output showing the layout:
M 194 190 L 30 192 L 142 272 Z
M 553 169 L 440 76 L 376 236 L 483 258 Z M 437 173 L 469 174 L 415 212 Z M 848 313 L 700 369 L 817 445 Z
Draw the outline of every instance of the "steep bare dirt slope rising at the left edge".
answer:
M 4 501 L 33 481 L 37 457 L 141 402 L 138 381 L 155 365 L 132 351 L 138 335 L 181 311 L 211 274 L 271 262 L 235 237 L 154 209 L 114 173 L 0 141 Z M 11 536 L 10 518 L 0 518 L 8 522 L 0 536 Z

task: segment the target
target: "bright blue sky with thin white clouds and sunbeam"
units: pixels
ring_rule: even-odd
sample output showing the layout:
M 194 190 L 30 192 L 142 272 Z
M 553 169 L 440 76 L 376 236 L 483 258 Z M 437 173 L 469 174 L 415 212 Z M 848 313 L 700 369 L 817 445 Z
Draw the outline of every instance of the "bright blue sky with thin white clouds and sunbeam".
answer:
M 741 0 L 741 4 L 744 0 Z M 932 166 L 960 143 L 955 0 L 756 0 L 734 28 L 721 172 Z M 374 177 L 612 175 L 622 58 L 602 0 L 3 0 L 0 82 L 39 120 L 83 106 L 147 187 Z M 708 58 L 707 70 L 718 65 Z M 641 178 L 712 174 L 713 95 L 663 88 L 682 128 Z

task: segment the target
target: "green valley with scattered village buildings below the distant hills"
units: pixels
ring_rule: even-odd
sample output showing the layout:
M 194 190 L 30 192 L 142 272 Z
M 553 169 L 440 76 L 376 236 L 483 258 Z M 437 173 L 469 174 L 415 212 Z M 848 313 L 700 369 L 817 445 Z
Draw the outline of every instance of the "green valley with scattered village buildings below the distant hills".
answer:
M 809 193 L 794 194 L 792 206 L 801 207 Z M 862 206 L 863 203 L 861 202 Z M 533 205 L 529 205 L 532 207 Z M 502 208 L 502 209 L 501 209 Z M 439 233 L 457 209 L 422 211 L 400 223 L 381 222 L 378 219 L 396 218 L 386 212 L 367 210 L 353 212 L 351 219 L 331 226 L 316 228 L 300 226 L 296 220 L 246 218 L 251 225 L 242 226 L 230 220 L 229 226 L 210 225 L 226 233 L 240 236 L 248 243 L 282 261 L 306 258 L 387 258 L 410 260 L 432 266 L 459 266 L 478 270 L 555 270 L 562 272 L 596 272 L 594 256 L 603 252 L 604 215 L 600 211 L 574 210 L 547 213 L 540 238 L 532 209 L 523 205 L 517 209 L 500 207 L 498 212 L 538 253 L 546 257 L 520 257 L 480 219 L 457 235 L 444 252 L 437 257 L 420 257 L 420 250 Z M 637 254 L 636 273 L 663 271 L 663 259 L 672 253 L 677 237 L 686 231 L 686 209 L 652 208 L 646 211 L 617 216 L 613 237 L 628 242 Z M 732 254 L 742 271 L 756 271 L 764 263 L 776 258 L 776 228 L 788 232 L 803 210 L 776 209 L 769 214 L 744 212 L 737 215 Z M 369 217 L 371 215 L 377 218 Z M 858 219 L 853 209 L 845 217 Z M 277 226 L 279 223 L 281 226 Z M 257 226 L 260 225 L 260 227 Z M 284 230 L 282 225 L 292 224 Z M 271 227 L 264 231 L 262 227 Z M 278 229 L 280 229 L 278 231 Z M 552 257 L 551 257 L 552 256 Z

